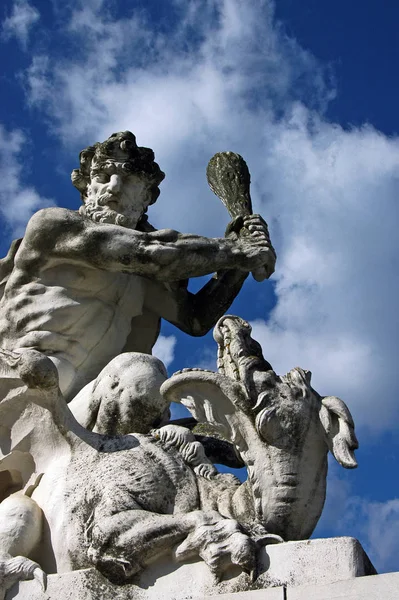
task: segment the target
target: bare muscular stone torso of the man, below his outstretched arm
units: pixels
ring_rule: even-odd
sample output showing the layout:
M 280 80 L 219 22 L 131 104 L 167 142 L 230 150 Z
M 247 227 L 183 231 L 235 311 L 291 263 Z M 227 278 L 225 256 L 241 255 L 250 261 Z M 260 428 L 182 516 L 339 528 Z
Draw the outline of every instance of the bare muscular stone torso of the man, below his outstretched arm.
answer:
M 145 305 L 147 285 L 23 242 L 0 303 L 0 347 L 55 357 L 80 388 L 121 352 L 151 352 L 160 319 Z

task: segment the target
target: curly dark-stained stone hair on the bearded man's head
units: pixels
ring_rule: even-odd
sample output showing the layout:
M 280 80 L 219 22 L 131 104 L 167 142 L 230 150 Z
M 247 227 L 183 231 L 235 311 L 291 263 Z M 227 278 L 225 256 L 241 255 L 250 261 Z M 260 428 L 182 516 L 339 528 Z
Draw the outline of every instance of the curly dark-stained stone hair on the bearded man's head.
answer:
M 165 178 L 165 173 L 155 162 L 154 152 L 151 148 L 137 146 L 136 137 L 131 131 L 120 131 L 113 133 L 105 142 L 88 146 L 79 154 L 80 167 L 72 171 L 71 179 L 80 191 L 82 201 L 86 198 L 91 171 L 106 161 L 122 163 L 127 173 L 145 174 L 152 183 L 151 204 L 157 200 L 160 193 L 158 186 Z

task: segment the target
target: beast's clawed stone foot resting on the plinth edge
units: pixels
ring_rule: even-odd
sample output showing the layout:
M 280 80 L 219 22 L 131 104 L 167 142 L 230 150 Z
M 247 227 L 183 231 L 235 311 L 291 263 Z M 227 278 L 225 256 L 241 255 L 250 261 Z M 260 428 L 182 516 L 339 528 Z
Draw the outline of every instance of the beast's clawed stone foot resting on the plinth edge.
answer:
M 200 525 L 175 551 L 179 562 L 195 555 L 206 562 L 217 580 L 231 565 L 238 565 L 251 576 L 256 572 L 256 545 L 233 519 Z

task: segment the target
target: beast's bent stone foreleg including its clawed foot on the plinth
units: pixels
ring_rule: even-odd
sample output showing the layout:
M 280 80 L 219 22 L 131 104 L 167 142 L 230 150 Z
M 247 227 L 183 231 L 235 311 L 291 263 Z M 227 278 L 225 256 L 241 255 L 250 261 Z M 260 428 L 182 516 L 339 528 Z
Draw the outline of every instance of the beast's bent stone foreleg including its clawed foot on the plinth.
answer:
M 237 564 L 255 569 L 255 544 L 238 523 L 216 511 L 160 515 L 142 510 L 105 516 L 100 510 L 87 531 L 88 556 L 108 579 L 122 584 L 158 556 L 171 553 L 177 561 L 200 556 L 215 575 Z

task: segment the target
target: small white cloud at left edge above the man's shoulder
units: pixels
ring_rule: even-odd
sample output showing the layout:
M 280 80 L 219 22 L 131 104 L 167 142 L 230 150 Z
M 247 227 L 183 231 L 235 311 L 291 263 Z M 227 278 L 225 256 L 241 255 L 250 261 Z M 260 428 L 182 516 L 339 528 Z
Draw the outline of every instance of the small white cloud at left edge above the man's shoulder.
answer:
M 35 211 L 54 204 L 23 183 L 25 144 L 22 131 L 8 132 L 0 124 L 0 212 L 14 237 L 23 235 Z

